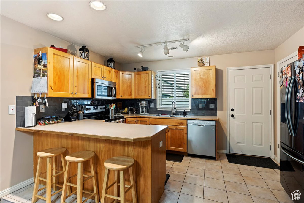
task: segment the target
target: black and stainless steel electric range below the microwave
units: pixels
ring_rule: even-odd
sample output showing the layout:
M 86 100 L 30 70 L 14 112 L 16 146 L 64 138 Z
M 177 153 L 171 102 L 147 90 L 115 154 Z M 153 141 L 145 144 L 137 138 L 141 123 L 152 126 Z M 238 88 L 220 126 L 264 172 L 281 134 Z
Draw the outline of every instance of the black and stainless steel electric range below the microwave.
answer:
M 125 123 L 125 120 L 126 120 L 124 116 L 106 115 L 104 105 L 102 105 L 102 106 L 86 106 L 85 111 L 84 111 L 84 115 L 83 115 L 83 119 L 104 120 L 105 123 L 109 123 L 111 121 L 120 121 L 120 120 L 121 120 L 122 123 Z

